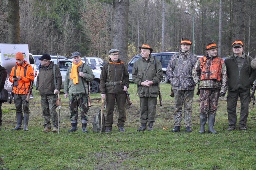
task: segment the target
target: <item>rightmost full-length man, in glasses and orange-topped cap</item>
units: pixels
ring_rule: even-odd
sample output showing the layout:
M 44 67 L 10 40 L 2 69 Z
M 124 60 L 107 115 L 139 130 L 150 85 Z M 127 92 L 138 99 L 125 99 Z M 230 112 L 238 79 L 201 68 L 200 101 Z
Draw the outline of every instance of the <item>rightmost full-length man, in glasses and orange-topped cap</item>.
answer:
M 236 105 L 240 98 L 241 110 L 239 118 L 239 130 L 246 130 L 246 122 L 251 102 L 251 85 L 256 79 L 256 69 L 251 67 L 252 57 L 243 52 L 242 41 L 234 41 L 232 44 L 233 54 L 224 61 L 228 74 L 228 131 L 236 129 Z

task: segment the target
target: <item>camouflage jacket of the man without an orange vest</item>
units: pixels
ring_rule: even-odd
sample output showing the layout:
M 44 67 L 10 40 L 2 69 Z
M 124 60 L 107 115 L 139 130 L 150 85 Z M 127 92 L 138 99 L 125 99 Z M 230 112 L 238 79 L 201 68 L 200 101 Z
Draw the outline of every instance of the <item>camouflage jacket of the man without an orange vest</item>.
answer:
M 192 69 L 197 61 L 197 56 L 187 52 L 175 53 L 168 63 L 167 78 L 175 90 L 194 90 L 195 83 Z M 176 63 L 177 62 L 177 63 Z

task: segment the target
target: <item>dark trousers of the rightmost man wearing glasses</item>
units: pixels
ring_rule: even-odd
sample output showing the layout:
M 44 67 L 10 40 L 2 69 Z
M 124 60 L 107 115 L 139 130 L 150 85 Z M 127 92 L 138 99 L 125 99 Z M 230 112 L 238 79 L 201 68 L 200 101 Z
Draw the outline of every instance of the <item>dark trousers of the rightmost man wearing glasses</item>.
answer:
M 239 128 L 246 127 L 247 117 L 249 113 L 249 103 L 251 102 L 250 89 L 248 90 L 236 90 L 228 91 L 227 96 L 227 112 L 228 112 L 228 122 L 229 127 L 236 128 L 236 105 L 237 99 L 240 97 L 240 118 L 239 118 Z

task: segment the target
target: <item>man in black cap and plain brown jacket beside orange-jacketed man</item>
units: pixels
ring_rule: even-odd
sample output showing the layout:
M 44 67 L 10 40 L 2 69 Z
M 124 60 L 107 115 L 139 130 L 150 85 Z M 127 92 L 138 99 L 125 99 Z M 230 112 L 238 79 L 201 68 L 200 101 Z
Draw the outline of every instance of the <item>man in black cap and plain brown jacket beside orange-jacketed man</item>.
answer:
M 59 67 L 54 64 L 49 54 L 40 58 L 40 68 L 36 79 L 36 89 L 41 95 L 41 107 L 44 116 L 42 132 L 58 132 L 58 114 L 56 112 L 56 94 L 60 92 L 62 78 Z M 55 74 L 55 75 L 54 75 Z M 53 130 L 51 129 L 51 118 Z

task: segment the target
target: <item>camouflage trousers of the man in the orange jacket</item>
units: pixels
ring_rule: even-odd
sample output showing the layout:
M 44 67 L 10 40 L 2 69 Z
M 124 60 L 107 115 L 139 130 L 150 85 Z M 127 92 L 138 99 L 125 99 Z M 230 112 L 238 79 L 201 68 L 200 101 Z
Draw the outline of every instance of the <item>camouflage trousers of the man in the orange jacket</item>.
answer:
M 26 95 L 25 94 L 13 94 L 14 104 L 16 107 L 16 113 L 22 113 L 22 107 L 23 112 L 26 114 L 29 114 L 29 102 L 26 102 Z

